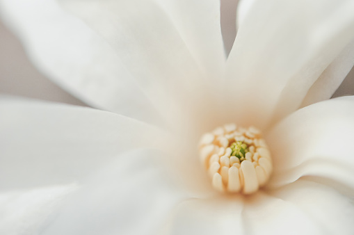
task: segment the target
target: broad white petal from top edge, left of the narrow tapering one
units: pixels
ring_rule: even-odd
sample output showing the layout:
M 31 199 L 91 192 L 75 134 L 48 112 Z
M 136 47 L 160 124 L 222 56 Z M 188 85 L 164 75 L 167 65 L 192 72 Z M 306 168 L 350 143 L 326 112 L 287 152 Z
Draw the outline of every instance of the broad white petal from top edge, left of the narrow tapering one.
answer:
M 142 0 L 61 2 L 111 44 L 172 127 L 190 119 L 207 75 L 163 9 Z

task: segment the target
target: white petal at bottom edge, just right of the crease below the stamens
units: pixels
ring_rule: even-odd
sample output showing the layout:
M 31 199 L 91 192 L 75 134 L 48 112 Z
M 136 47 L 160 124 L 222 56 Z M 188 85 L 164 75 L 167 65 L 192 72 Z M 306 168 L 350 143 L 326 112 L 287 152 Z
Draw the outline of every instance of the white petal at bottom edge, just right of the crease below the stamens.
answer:
M 321 210 L 321 208 L 319 208 Z M 252 195 L 243 209 L 245 234 L 323 234 L 323 228 L 298 206 L 266 195 Z

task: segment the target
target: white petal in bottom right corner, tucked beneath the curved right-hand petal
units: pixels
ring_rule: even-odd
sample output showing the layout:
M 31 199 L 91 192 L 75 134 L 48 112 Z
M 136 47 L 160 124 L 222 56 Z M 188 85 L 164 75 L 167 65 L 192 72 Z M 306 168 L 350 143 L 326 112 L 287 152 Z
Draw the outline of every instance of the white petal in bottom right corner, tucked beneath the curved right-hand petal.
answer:
M 323 234 L 353 234 L 353 200 L 333 188 L 299 179 L 268 193 L 305 211 L 323 228 Z

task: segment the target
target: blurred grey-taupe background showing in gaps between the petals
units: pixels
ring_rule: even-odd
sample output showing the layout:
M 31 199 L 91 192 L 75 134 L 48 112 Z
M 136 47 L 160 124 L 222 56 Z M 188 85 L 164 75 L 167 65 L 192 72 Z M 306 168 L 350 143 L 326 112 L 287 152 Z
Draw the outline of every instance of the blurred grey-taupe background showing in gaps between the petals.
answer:
M 236 35 L 236 2 L 222 0 L 221 24 L 226 51 L 230 51 Z M 85 105 L 65 90 L 49 81 L 31 65 L 15 35 L 0 22 L 0 94 L 44 99 L 67 104 Z M 354 95 L 354 69 L 341 84 L 334 97 Z

